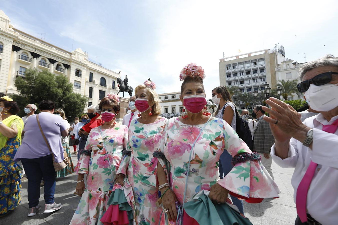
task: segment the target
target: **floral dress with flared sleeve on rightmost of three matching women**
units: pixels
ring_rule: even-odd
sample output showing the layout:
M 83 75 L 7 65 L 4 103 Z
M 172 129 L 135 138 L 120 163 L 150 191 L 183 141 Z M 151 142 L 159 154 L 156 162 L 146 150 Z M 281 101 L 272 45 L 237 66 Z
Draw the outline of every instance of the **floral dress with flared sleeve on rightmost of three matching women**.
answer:
M 204 124 L 187 125 L 178 117 L 170 118 L 165 128 L 159 151 L 168 161 L 160 160 L 169 174 L 169 183 L 180 204 L 183 203 L 191 146 Z M 244 141 L 224 120 L 212 118 L 199 136 L 192 152 L 187 194 L 188 201 L 201 190 L 209 191 L 216 182 L 232 195 L 247 199 L 278 197 L 280 190 L 259 161 L 241 162 L 223 178 L 219 178 L 218 161 L 224 149 L 234 157 L 251 153 Z M 260 199 L 260 200 L 257 200 Z

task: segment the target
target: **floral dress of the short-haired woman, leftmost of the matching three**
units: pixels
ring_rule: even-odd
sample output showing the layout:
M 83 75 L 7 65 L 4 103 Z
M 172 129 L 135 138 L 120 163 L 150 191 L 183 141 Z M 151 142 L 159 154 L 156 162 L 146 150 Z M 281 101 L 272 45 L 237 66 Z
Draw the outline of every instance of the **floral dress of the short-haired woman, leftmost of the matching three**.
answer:
M 108 208 L 122 150 L 127 144 L 127 126 L 102 130 L 104 144 L 100 129 L 97 127 L 90 131 L 85 150 L 91 153 L 82 154 L 75 169 L 77 174 L 87 174 L 87 186 L 70 222 L 72 225 L 102 224 L 100 219 Z

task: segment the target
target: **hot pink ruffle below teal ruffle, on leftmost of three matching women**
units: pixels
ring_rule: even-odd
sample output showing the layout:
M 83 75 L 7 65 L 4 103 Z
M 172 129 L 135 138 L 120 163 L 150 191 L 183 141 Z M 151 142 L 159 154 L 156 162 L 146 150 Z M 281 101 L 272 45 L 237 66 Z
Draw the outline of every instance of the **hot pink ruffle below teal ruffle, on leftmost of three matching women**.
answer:
M 110 205 L 100 220 L 103 225 L 128 225 L 127 211 L 120 211 L 119 205 Z

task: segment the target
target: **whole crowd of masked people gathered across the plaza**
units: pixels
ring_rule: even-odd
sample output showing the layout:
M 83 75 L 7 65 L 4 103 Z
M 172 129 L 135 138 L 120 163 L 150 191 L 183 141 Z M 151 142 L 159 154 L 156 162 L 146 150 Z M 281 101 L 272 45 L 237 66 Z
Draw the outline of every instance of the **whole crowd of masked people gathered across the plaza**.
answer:
M 257 105 L 252 114 L 246 109 L 239 114 L 228 89 L 219 86 L 211 91 L 218 105 L 212 115 L 204 70 L 194 63 L 179 76 L 183 115 L 170 119 L 160 116 L 161 100 L 151 80 L 135 88 L 121 124 L 116 121 L 120 100 L 113 93 L 72 125 L 50 100 L 27 105 L 27 116 L 20 118 L 17 103 L 2 96 L 0 215 L 20 204 L 23 175 L 28 216 L 41 208 L 42 180 L 44 213 L 60 209 L 54 201 L 56 177 L 76 172 L 74 194 L 81 199 L 72 225 L 252 224 L 243 201 L 279 197 L 274 160 L 295 168 L 295 224 L 336 224 L 338 58 L 306 63 L 299 73 L 297 88 L 309 105 L 300 113 L 270 97 L 265 101 L 270 107 Z M 69 135 L 78 156 L 75 169 Z

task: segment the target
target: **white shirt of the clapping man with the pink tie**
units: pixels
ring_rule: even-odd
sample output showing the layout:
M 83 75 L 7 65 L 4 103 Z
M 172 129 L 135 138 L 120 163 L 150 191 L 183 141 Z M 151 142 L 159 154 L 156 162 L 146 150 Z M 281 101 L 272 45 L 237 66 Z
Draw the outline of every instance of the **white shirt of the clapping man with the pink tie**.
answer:
M 336 119 L 338 115 L 328 122 L 320 113 L 303 122 L 313 128 L 313 150 L 291 138 L 288 158 L 282 160 L 275 155 L 274 145 L 271 147 L 272 159 L 279 166 L 295 168 L 291 178 L 295 202 L 297 187 L 310 161 L 318 164 L 308 191 L 306 206 L 308 213 L 325 225 L 336 225 L 338 221 L 338 129 L 334 134 L 321 129 L 323 125 L 332 124 Z

